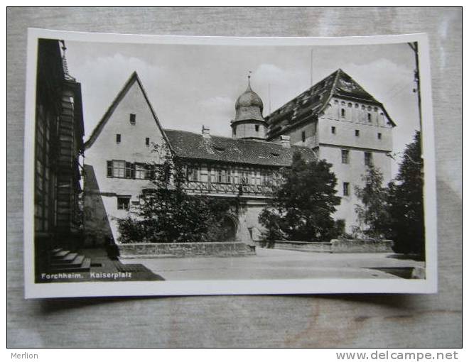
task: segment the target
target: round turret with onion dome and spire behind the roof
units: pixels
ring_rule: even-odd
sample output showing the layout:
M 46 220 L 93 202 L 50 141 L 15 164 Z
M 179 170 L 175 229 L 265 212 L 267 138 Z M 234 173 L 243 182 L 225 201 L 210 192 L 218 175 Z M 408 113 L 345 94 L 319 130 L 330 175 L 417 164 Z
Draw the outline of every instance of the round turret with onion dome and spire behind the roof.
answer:
M 251 89 L 251 72 L 247 76 L 247 89 L 241 94 L 234 109 L 236 116 L 231 121 L 232 137 L 263 140 L 266 136 L 267 122 L 262 116 L 262 99 Z

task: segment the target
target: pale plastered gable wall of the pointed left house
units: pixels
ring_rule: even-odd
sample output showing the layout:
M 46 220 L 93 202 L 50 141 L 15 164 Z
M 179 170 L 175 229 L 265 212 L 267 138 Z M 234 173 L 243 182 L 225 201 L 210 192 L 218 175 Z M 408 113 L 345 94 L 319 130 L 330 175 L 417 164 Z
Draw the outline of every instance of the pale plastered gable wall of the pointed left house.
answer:
M 135 125 L 129 121 L 130 114 L 136 115 Z M 120 143 L 116 142 L 117 133 L 121 135 Z M 150 146 L 145 144 L 146 137 L 150 138 Z M 107 177 L 107 161 L 158 163 L 160 158 L 158 153 L 151 151 L 151 143 L 162 145 L 164 142 L 144 94 L 139 84 L 134 82 L 95 142 L 85 150 L 85 170 L 90 173 L 88 182 L 85 175 L 85 233 L 100 235 L 93 243 L 104 243 L 111 236 L 117 238 L 115 218 L 127 214 L 125 210 L 117 209 L 117 197 L 130 196 L 131 202 L 138 202 L 142 187 L 149 185 L 148 180 Z M 102 204 L 102 207 L 97 208 L 97 204 Z M 106 231 L 104 234 L 103 230 Z M 107 230 L 111 230 L 112 235 Z

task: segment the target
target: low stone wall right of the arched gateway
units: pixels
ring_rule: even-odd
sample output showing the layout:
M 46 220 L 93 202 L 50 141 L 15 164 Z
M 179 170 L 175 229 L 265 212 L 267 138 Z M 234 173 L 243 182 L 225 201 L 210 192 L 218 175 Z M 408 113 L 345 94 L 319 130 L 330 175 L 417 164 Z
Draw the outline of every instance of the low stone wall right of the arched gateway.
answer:
M 274 248 L 316 253 L 392 253 L 391 240 L 333 239 L 326 243 L 276 240 Z

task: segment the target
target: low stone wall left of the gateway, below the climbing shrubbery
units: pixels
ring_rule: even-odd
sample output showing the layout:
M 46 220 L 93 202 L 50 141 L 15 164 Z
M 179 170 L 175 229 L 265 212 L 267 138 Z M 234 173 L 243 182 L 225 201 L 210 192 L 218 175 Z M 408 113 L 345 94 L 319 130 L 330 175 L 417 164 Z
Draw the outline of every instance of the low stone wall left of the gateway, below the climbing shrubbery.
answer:
M 198 256 L 251 256 L 254 248 L 239 242 L 119 243 L 119 258 L 192 258 Z

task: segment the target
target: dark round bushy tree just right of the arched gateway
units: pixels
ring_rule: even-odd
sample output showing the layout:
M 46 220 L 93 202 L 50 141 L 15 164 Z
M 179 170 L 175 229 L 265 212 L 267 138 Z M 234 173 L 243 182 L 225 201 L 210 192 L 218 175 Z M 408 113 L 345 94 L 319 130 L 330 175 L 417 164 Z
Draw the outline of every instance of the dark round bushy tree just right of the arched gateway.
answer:
M 293 154 L 291 168 L 281 170 L 272 201 L 259 215 L 267 239 L 325 241 L 335 236 L 331 215 L 340 197 L 335 196 L 337 179 L 331 167 L 325 160 L 306 162 L 301 153 Z

